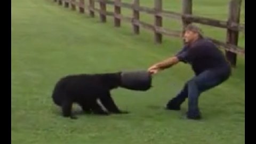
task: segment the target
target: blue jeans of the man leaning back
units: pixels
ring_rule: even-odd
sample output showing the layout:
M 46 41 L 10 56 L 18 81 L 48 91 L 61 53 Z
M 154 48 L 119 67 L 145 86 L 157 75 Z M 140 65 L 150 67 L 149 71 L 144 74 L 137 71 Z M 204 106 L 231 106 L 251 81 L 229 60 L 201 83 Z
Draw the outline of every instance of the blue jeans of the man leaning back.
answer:
M 228 79 L 230 69 L 209 69 L 191 78 L 179 92 L 179 94 L 169 101 L 168 105 L 180 107 L 181 103 L 188 98 L 188 115 L 199 115 L 198 97 L 213 87 L 223 83 Z M 175 107 L 174 106 L 174 107 Z

